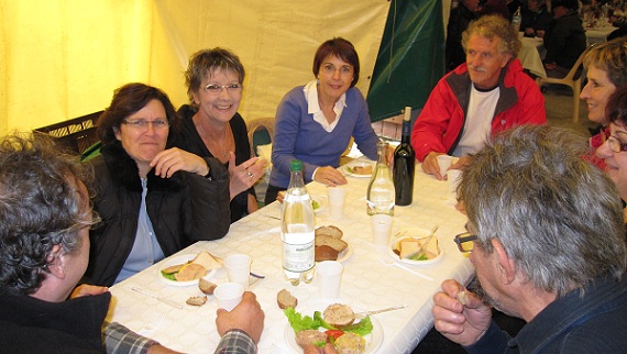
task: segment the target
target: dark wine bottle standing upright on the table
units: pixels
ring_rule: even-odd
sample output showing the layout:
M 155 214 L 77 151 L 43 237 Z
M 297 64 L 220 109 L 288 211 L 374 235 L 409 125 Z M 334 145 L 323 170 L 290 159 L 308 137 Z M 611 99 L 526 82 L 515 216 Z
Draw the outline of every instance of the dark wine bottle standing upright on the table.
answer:
M 400 144 L 394 151 L 394 189 L 396 204 L 409 206 L 414 199 L 416 152 L 409 142 L 411 135 L 411 107 L 405 108 Z

